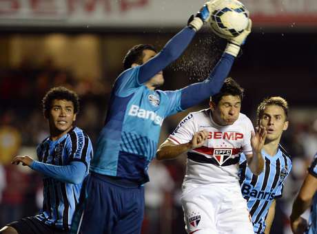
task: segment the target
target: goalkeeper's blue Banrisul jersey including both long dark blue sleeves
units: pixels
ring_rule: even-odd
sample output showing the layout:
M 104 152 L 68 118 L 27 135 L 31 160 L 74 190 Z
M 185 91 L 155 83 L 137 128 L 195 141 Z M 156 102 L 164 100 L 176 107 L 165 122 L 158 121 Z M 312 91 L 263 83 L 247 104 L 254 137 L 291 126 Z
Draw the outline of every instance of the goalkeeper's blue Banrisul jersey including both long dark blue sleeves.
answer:
M 147 167 L 156 154 L 164 118 L 219 92 L 234 63 L 231 54 L 224 53 L 200 83 L 174 91 L 154 91 L 144 85 L 181 55 L 194 34 L 192 28 L 184 28 L 159 54 L 119 75 L 90 171 L 139 184 L 149 181 Z

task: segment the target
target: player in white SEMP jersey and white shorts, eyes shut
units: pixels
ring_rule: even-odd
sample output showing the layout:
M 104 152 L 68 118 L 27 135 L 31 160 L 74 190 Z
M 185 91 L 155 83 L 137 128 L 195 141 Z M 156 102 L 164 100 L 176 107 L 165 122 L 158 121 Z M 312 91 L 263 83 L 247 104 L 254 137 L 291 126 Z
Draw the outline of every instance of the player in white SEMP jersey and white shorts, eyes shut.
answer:
M 181 198 L 187 233 L 254 233 L 238 182 L 239 153 L 259 174 L 266 130 L 254 134 L 251 120 L 240 113 L 242 98 L 243 89 L 227 78 L 210 108 L 188 114 L 156 153 L 165 160 L 187 152 Z

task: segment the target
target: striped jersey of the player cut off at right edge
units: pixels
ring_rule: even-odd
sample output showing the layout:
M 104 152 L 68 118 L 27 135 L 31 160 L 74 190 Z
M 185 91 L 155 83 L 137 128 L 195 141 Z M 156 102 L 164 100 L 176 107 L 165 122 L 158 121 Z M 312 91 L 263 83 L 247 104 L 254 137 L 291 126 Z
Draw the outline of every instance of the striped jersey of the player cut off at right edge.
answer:
M 308 169 L 309 174 L 314 175 L 317 178 L 317 153 L 314 156 L 313 162 Z M 311 202 L 311 209 L 309 215 L 309 228 L 307 231 L 308 234 L 317 233 L 317 193 L 315 193 L 313 202 Z

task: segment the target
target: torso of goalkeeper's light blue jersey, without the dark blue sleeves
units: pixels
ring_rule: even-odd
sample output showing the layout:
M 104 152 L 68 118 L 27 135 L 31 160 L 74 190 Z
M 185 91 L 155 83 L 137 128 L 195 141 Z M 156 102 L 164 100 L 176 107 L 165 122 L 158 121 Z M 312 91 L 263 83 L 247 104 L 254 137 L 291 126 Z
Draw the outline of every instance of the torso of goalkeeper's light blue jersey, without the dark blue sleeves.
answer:
M 139 68 L 125 70 L 114 83 L 90 171 L 143 184 L 164 118 L 182 109 L 180 89 L 148 89 L 139 83 Z

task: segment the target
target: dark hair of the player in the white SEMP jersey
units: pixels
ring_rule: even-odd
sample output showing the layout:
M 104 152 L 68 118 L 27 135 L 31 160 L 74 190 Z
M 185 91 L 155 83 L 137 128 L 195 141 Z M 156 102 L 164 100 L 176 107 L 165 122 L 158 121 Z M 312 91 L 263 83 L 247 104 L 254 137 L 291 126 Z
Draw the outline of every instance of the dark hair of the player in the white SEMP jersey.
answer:
M 219 101 L 223 96 L 232 95 L 239 96 L 241 100 L 243 100 L 243 92 L 244 89 L 241 87 L 233 78 L 228 77 L 223 82 L 223 87 L 221 87 L 220 92 L 218 94 L 214 94 L 210 97 L 210 100 L 218 105 Z

